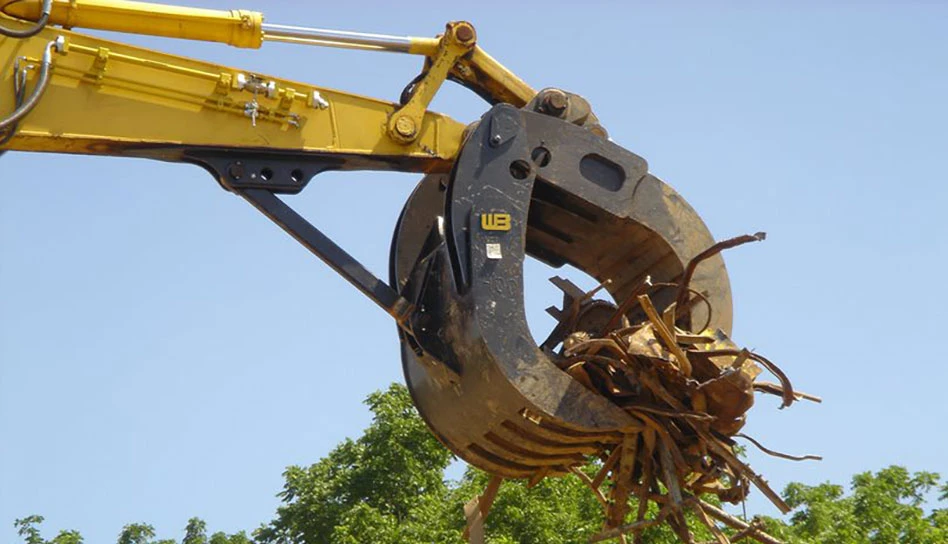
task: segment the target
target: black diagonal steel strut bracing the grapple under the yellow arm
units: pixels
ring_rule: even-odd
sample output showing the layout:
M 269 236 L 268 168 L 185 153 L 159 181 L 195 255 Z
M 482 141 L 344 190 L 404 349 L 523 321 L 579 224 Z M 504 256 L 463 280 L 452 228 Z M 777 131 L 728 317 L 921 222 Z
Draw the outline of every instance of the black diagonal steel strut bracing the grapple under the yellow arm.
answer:
M 409 318 L 414 307 L 390 285 L 368 271 L 355 257 L 339 247 L 296 210 L 265 189 L 236 189 L 234 192 L 253 204 L 306 249 L 322 259 L 340 276 L 372 299 L 395 318 L 398 326 L 411 334 Z

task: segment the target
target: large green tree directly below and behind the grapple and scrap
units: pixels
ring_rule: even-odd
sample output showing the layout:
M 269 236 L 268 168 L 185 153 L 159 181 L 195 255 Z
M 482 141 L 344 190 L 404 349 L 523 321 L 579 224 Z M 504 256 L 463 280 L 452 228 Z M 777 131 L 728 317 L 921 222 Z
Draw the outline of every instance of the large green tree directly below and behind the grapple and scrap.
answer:
M 489 477 L 468 469 L 460 482 L 445 482 L 452 457 L 428 431 L 404 386 L 377 392 L 366 404 L 374 417 L 358 440 L 344 441 L 309 467 L 286 470 L 283 505 L 256 531 L 256 542 L 463 542 L 463 504 L 483 491 Z M 533 488 L 507 481 L 487 534 L 495 543 L 585 543 L 602 521 L 601 507 L 578 478 L 545 479 Z M 694 520 L 692 526 L 699 539 L 711 538 Z M 648 536 L 652 544 L 676 542 L 667 528 Z

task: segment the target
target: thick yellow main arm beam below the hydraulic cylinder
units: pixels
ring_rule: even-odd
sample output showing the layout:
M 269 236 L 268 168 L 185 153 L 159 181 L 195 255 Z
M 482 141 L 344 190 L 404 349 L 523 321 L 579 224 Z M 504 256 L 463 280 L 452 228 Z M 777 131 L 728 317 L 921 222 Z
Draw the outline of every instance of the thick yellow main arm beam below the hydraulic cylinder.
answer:
M 339 156 L 353 168 L 435 172 L 450 168 L 461 144 L 464 125 L 443 115 L 426 112 L 405 145 L 386 129 L 397 104 L 51 27 L 0 38 L 0 117 L 14 108 L 6 89 L 15 60 L 38 59 L 57 36 L 66 48 L 49 88 L 5 149 L 167 160 L 185 147 L 285 150 Z

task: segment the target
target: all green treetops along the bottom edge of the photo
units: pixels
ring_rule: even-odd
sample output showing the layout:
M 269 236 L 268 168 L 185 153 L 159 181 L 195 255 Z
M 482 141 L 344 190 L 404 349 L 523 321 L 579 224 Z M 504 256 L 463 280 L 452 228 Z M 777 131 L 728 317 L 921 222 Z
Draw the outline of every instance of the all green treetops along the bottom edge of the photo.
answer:
M 431 435 L 408 391 L 393 385 L 369 396 L 373 420 L 356 440 L 345 440 L 309 467 L 291 466 L 278 494 L 274 518 L 252 537 L 215 532 L 191 518 L 181 544 L 378 544 L 463 542 L 462 505 L 487 485 L 488 475 L 468 469 L 447 482 L 451 454 Z M 597 469 L 591 463 L 586 470 Z M 794 512 L 786 520 L 764 518 L 767 531 L 788 544 L 948 543 L 948 483 L 938 474 L 891 466 L 852 478 L 850 489 L 829 482 L 793 483 L 784 498 Z M 633 505 L 633 511 L 635 510 Z M 654 514 L 654 512 L 652 512 Z M 585 543 L 602 526 L 602 510 L 575 477 L 501 486 L 487 521 L 492 544 Z M 691 520 L 699 541 L 712 535 Z M 44 540 L 42 516 L 15 521 L 25 544 L 81 544 L 76 531 Z M 645 533 L 649 544 L 678 542 L 665 527 Z M 151 525 L 132 523 L 118 544 L 177 544 L 156 540 Z

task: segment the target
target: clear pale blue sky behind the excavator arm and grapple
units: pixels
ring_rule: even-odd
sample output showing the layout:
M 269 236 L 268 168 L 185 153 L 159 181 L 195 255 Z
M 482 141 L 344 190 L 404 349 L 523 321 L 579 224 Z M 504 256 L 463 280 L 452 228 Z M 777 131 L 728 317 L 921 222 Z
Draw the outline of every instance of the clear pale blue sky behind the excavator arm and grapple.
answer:
M 769 233 L 727 255 L 734 337 L 826 399 L 752 412 L 765 444 L 826 457 L 752 451 L 775 487 L 891 463 L 948 475 L 948 6 L 187 3 L 394 34 L 471 20 L 532 85 L 588 97 L 717 237 Z M 123 39 L 388 99 L 420 65 Z M 435 109 L 486 108 L 448 88 Z M 11 153 L 0 177 L 0 541 L 32 513 L 94 543 L 133 521 L 253 529 L 283 468 L 357 436 L 362 399 L 401 381 L 389 318 L 198 168 Z M 385 274 L 413 184 L 325 175 L 292 203 Z M 545 331 L 556 294 L 528 275 Z

